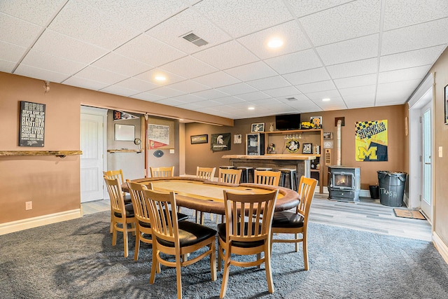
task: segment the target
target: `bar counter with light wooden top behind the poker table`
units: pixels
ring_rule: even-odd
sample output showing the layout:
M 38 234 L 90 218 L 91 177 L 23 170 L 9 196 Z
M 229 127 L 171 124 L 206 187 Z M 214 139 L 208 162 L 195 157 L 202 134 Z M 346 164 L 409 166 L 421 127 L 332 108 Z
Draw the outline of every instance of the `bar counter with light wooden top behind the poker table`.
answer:
M 315 155 L 294 155 L 294 154 L 269 154 L 269 155 L 223 155 L 223 159 L 229 159 L 230 165 L 235 167 L 271 167 L 272 170 L 280 168 L 295 168 L 297 178 L 300 176 L 311 176 L 311 160 L 316 159 Z

